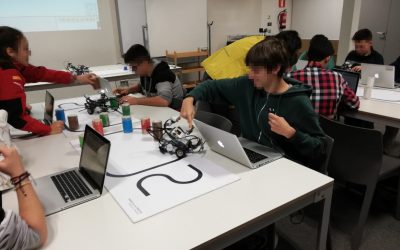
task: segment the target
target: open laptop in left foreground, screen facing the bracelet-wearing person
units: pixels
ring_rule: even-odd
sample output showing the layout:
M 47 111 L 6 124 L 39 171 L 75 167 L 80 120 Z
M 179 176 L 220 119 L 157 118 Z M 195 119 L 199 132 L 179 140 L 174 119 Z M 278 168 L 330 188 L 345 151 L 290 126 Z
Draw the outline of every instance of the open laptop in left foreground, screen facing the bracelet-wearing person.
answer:
M 86 125 L 79 168 L 35 179 L 46 215 L 101 196 L 110 147 L 110 141 Z

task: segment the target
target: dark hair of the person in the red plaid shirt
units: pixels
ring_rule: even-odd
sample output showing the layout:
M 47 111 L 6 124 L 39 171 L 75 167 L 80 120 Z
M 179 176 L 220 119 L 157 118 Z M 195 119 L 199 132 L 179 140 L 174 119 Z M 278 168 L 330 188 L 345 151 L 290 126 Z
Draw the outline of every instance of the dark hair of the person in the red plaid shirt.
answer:
M 308 48 L 307 57 L 309 61 L 319 62 L 335 53 L 332 43 L 324 35 L 315 35 L 311 38 L 310 47 Z

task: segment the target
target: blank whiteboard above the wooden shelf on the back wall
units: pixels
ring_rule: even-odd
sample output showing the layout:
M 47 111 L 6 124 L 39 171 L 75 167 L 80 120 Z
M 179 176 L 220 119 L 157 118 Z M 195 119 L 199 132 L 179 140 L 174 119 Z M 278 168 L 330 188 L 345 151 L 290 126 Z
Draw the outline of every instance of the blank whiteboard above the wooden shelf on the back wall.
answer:
M 207 0 L 146 0 L 152 57 L 207 47 Z

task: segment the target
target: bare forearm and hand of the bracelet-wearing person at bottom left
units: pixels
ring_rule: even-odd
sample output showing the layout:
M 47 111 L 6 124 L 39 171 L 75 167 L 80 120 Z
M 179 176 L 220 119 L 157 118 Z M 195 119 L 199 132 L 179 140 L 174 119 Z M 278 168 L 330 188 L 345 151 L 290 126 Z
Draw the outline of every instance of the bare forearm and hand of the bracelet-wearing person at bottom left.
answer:
M 25 172 L 15 148 L 0 147 L 0 153 L 4 156 L 4 160 L 0 161 L 1 172 L 11 178 L 20 176 Z M 17 186 L 16 192 L 19 215 L 30 228 L 39 233 L 40 245 L 43 245 L 47 240 L 45 214 L 29 179 L 23 180 L 20 183 L 20 187 L 18 188 Z

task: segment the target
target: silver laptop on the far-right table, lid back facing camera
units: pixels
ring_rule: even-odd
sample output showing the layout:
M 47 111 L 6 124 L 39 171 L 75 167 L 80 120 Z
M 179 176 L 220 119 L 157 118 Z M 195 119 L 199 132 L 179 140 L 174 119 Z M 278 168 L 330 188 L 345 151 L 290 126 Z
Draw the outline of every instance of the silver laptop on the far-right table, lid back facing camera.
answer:
M 394 66 L 378 64 L 361 64 L 362 83 L 366 84 L 370 76 L 375 77 L 374 87 L 393 89 L 394 85 Z

